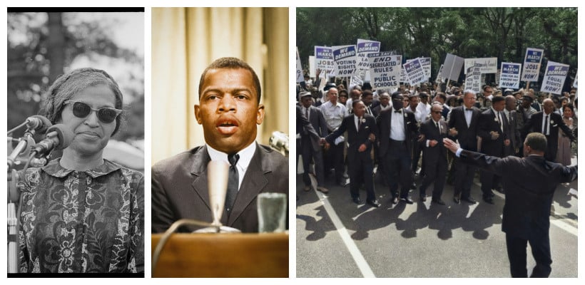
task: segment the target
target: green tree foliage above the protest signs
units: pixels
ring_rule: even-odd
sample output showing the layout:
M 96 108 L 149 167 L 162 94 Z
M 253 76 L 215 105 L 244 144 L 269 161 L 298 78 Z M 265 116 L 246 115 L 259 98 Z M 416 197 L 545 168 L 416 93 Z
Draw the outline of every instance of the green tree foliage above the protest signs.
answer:
M 308 66 L 314 46 L 380 41 L 382 51 L 397 51 L 403 60 L 431 57 L 433 76 L 447 53 L 522 63 L 526 48 L 542 48 L 541 77 L 547 61 L 569 64 L 569 88 L 576 27 L 576 8 L 297 8 L 297 47 Z

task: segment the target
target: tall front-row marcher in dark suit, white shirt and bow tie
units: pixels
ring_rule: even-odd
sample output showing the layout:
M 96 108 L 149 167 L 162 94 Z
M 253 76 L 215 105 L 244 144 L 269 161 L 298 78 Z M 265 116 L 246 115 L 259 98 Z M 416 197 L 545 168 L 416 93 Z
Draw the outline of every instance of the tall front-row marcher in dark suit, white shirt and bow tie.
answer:
M 449 115 L 449 137 L 457 140 L 466 150 L 477 150 L 477 122 L 479 109 L 474 107 L 475 92 L 464 90 L 463 105 L 451 110 Z M 455 161 L 455 185 L 453 201 L 459 203 L 459 199 L 475 204 L 471 197 L 471 187 L 476 167 L 457 163 Z

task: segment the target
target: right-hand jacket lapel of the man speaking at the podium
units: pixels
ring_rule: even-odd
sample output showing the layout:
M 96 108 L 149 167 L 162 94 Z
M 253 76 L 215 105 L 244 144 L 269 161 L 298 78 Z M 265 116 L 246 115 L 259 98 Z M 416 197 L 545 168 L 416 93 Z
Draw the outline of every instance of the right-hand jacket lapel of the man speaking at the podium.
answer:
M 238 195 L 235 197 L 233 212 L 228 217 L 228 227 L 233 225 L 233 222 L 240 217 L 246 207 L 256 199 L 258 193 L 268 184 L 265 173 L 271 172 L 272 169 L 270 160 L 263 161 L 262 157 L 263 150 L 260 145 L 256 144 L 256 151 L 252 160 L 250 160 L 250 165 L 248 165 Z

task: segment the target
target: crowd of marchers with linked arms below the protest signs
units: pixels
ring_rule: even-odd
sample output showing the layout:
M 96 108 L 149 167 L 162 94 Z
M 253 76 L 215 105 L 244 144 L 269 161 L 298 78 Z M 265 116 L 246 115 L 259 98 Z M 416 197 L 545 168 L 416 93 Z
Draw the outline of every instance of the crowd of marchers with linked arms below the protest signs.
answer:
M 420 201 L 444 205 L 446 183 L 454 186 L 453 201 L 475 204 L 471 187 L 479 172 L 482 200 L 494 204 L 494 190 L 505 193 L 501 177 L 458 158 L 443 145 L 443 139 L 459 142 L 465 150 L 494 157 L 523 156 L 529 133 L 546 136 L 544 157 L 571 165 L 576 153 L 576 89 L 562 95 L 534 90 L 499 90 L 485 85 L 482 92 L 446 84 L 422 83 L 397 90 L 372 90 L 370 83 L 345 87 L 345 81 L 326 83 L 321 90 L 319 71 L 312 82 L 297 85 L 297 154 L 302 157 L 305 184 L 327 193 L 330 184 L 347 185 L 352 201 L 380 207 L 374 179 L 389 187 L 392 203 L 413 203 L 410 190 Z M 297 164 L 298 157 L 297 155 Z M 347 170 L 346 170 L 347 167 Z M 416 185 L 414 177 L 421 178 Z

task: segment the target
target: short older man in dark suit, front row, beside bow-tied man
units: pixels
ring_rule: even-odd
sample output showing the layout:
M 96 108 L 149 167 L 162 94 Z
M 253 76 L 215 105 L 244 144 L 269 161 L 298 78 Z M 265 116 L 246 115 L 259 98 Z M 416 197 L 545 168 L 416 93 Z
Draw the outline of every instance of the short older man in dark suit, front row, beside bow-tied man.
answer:
M 443 106 L 440 103 L 431 105 L 431 119 L 420 125 L 422 155 L 424 156 L 424 179 L 420 187 L 419 197 L 422 202 L 427 200 L 427 188 L 434 182 L 431 202 L 444 205 L 441 199 L 447 175 L 447 150 L 443 147 L 443 139 L 447 138 L 447 123 L 442 119 Z

